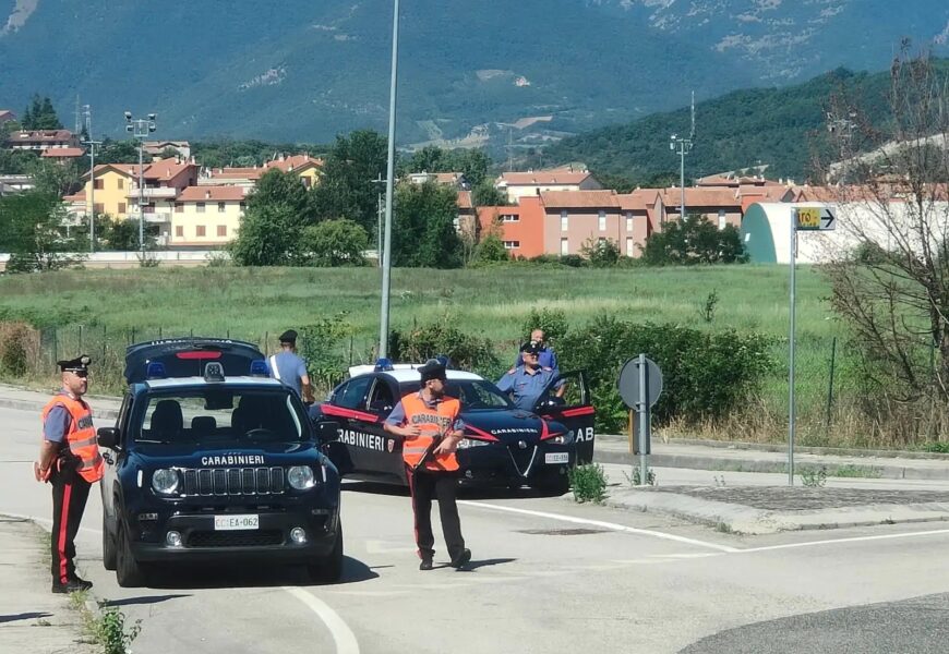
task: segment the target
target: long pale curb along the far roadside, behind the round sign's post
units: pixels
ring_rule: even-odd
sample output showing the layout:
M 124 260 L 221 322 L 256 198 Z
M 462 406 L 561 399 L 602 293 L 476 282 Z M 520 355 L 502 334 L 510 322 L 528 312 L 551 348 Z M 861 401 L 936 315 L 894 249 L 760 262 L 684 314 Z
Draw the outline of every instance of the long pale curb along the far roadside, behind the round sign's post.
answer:
M 597 463 L 623 463 L 635 465 L 638 457 L 626 452 L 593 451 L 593 461 Z M 783 461 L 755 460 L 742 457 L 704 457 L 698 455 L 650 455 L 649 462 L 656 468 L 686 468 L 690 470 L 714 470 L 721 472 L 788 472 Z M 839 476 L 834 473 L 841 469 L 853 471 L 853 463 L 827 463 L 827 462 L 797 462 L 795 468 L 801 470 L 813 469 L 824 465 L 828 476 Z M 946 468 L 909 468 L 905 465 L 857 465 L 864 474 L 846 474 L 840 476 L 888 480 L 928 480 L 949 481 L 949 465 Z

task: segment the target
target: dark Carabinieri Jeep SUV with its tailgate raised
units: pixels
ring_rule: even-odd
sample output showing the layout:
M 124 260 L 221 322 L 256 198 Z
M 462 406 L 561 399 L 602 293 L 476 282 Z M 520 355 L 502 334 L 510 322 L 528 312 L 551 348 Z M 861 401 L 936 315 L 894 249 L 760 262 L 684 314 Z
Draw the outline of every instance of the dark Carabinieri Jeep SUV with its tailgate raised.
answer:
M 98 429 L 103 562 L 119 585 L 192 561 L 302 564 L 314 581 L 340 577 L 338 425 L 311 423 L 255 346 L 139 343 L 127 350 L 125 379 L 116 426 Z

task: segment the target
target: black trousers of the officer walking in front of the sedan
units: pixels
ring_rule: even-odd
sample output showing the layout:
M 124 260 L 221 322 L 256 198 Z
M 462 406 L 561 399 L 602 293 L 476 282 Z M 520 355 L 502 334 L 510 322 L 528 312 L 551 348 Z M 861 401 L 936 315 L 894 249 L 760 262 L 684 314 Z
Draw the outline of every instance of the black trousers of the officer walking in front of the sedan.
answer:
M 439 500 L 439 513 L 442 517 L 442 533 L 448 556 L 457 557 L 465 549 L 465 538 L 461 536 L 461 519 L 458 517 L 458 505 L 455 498 L 458 492 L 458 476 L 449 472 L 430 472 L 419 470 L 408 471 L 409 491 L 412 494 L 412 512 L 416 517 L 416 544 L 419 557 L 431 559 L 434 554 L 435 535 L 432 533 L 432 498 Z

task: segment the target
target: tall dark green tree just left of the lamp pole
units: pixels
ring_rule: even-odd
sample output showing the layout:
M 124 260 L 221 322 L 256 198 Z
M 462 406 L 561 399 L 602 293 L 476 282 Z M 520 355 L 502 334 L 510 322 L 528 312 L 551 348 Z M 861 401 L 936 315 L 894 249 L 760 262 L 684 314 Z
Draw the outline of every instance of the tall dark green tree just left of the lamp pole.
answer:
M 319 216 L 348 218 L 374 234 L 379 193 L 384 187 L 373 180 L 385 175 L 386 157 L 385 137 L 372 130 L 337 136 L 324 158 L 320 183 L 314 191 Z

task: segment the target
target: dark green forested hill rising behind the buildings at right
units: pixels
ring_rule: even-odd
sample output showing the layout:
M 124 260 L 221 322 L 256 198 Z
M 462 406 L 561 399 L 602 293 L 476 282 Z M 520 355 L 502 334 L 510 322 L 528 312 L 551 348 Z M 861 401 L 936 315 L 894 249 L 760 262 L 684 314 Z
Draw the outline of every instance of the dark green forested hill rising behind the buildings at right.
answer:
M 949 60 L 934 61 L 949 75 Z M 845 69 L 782 88 L 737 90 L 696 105 L 695 147 L 686 156 L 689 180 L 767 165 L 771 179 L 810 177 L 815 156 L 828 146 L 826 111 L 831 97 L 845 97 L 870 124 L 887 114 L 889 72 Z M 688 107 L 653 113 L 632 123 L 565 138 L 544 153 L 545 164 L 582 161 L 608 185 L 678 183 L 680 157 L 670 135 L 687 135 Z

